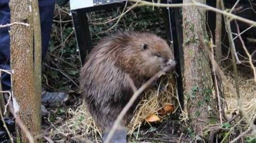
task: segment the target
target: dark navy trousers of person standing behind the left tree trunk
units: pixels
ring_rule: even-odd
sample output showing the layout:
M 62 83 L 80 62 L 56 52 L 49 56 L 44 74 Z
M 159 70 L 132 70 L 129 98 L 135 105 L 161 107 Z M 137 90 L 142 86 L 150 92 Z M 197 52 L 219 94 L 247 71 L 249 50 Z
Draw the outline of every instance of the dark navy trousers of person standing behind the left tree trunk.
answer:
M 41 20 L 42 57 L 46 55 L 52 27 L 55 0 L 38 0 Z M 10 23 L 9 0 L 0 0 L 0 24 Z M 10 70 L 10 28 L 0 28 L 0 69 Z M 3 90 L 11 89 L 11 77 L 2 72 Z

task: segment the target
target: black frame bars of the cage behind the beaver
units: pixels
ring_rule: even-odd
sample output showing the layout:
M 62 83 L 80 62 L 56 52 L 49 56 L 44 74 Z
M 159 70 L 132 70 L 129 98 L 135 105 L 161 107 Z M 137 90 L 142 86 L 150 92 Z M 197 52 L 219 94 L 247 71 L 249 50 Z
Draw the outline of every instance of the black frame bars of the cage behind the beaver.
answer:
M 86 0 L 89 1 L 89 0 Z M 97 0 L 93 0 L 94 2 Z M 75 35 L 77 40 L 78 49 L 81 56 L 81 62 L 84 64 L 84 60 L 86 55 L 92 50 L 93 44 L 91 39 L 91 33 L 89 29 L 89 22 L 87 15 L 85 13 L 87 12 L 93 12 L 97 10 L 103 10 L 103 9 L 113 9 L 113 7 L 123 7 L 126 3 L 126 1 L 121 2 L 112 2 L 111 3 L 101 3 L 97 4 L 91 7 L 84 7 L 82 9 L 76 9 L 71 10 L 71 15 L 73 18 L 73 24 L 75 28 Z M 168 2 L 167 2 L 168 1 Z M 150 1 L 151 2 L 151 1 Z M 182 3 L 182 0 L 165 0 L 161 3 Z M 129 4 L 128 4 L 129 5 Z M 184 102 L 183 102 L 183 86 L 182 86 L 182 66 L 181 61 L 182 56 L 180 56 L 180 53 L 182 53 L 182 18 L 180 16 L 180 8 L 161 8 L 163 11 L 163 15 L 168 18 L 166 21 L 166 36 L 169 41 L 171 41 L 172 37 L 172 44 L 173 44 L 173 52 L 174 52 L 174 58 L 177 62 L 175 66 L 175 70 L 178 74 L 177 76 L 177 90 L 178 90 L 178 99 L 181 105 L 181 108 L 183 110 Z M 169 9 L 169 10 L 168 10 Z M 170 18 L 170 19 L 169 19 Z M 172 29 L 170 29 L 170 26 Z

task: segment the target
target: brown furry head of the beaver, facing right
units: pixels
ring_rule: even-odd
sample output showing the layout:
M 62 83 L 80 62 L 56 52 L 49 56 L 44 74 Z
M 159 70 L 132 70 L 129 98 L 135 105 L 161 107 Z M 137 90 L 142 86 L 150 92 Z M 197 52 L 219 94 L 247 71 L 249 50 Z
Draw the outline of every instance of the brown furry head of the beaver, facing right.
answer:
M 151 33 L 136 33 L 133 37 L 127 48 L 132 52 L 127 52 L 126 59 L 131 59 L 130 64 L 133 63 L 138 74 L 151 77 L 166 66 L 174 69 L 176 62 L 172 49 L 164 39 Z

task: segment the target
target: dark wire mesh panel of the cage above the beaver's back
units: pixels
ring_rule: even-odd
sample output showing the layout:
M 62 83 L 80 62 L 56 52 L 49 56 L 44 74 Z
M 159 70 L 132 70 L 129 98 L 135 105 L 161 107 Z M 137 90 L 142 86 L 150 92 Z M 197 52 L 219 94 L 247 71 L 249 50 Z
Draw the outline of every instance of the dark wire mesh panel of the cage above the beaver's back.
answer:
M 166 28 L 164 27 L 164 18 L 162 9 L 156 7 L 140 7 L 133 9 L 118 19 L 106 24 L 96 24 L 109 21 L 121 15 L 124 7 L 115 7 L 113 9 L 97 10 L 88 12 L 89 29 L 91 33 L 92 45 L 104 36 L 108 36 L 117 31 L 147 31 L 153 32 L 158 36 L 166 39 Z M 113 27 L 112 29 L 110 29 Z

